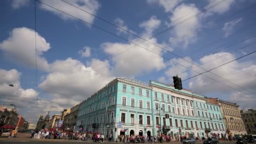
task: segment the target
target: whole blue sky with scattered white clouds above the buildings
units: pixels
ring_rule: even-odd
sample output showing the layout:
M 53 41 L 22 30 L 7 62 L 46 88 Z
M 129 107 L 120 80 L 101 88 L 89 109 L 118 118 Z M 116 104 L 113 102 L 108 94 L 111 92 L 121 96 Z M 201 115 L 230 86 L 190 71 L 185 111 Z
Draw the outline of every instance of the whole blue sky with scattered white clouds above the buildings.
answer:
M 29 123 L 116 77 L 173 84 L 178 75 L 195 93 L 256 107 L 253 0 L 5 0 L 0 7 L 0 104 L 15 104 Z

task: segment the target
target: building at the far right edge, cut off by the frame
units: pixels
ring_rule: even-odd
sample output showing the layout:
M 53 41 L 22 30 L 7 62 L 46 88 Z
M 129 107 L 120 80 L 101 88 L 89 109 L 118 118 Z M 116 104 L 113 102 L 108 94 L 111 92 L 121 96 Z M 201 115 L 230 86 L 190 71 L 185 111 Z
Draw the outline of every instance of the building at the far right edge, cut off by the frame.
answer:
M 248 134 L 256 134 L 256 110 L 248 109 L 248 111 L 241 110 L 243 122 Z

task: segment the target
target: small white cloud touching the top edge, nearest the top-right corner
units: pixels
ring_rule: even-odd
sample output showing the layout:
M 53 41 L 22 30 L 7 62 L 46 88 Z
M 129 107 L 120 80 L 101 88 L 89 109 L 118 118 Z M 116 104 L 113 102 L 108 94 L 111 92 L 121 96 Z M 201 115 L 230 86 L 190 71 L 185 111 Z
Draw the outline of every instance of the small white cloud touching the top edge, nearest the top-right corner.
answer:
M 209 2 L 213 0 L 208 0 Z M 211 16 L 214 13 L 222 14 L 229 11 L 231 5 L 235 2 L 235 0 L 225 0 L 223 3 L 222 0 L 215 0 L 214 2 L 209 3 L 205 8 L 209 10 L 204 14 L 205 16 Z M 216 5 L 216 6 L 215 6 Z

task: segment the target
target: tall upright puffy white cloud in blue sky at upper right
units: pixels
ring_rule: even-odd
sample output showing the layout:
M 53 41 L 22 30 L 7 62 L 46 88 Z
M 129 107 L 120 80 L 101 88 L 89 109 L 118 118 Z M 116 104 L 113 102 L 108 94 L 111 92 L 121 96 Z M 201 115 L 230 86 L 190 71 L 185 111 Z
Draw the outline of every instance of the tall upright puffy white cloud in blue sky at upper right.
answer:
M 181 4 L 174 9 L 173 15 L 171 16 L 171 22 L 173 28 L 174 37 L 179 37 L 178 39 L 173 40 L 171 37 L 170 41 L 174 46 L 180 45 L 182 47 L 187 47 L 190 43 L 195 43 L 197 40 L 197 33 L 191 33 L 187 35 L 192 30 L 200 27 L 201 25 L 201 16 L 197 15 L 192 18 L 187 19 L 186 21 L 173 23 L 177 19 L 184 16 L 184 13 L 200 13 L 200 10 L 195 7 L 194 4 Z M 185 36 L 186 35 L 186 36 Z

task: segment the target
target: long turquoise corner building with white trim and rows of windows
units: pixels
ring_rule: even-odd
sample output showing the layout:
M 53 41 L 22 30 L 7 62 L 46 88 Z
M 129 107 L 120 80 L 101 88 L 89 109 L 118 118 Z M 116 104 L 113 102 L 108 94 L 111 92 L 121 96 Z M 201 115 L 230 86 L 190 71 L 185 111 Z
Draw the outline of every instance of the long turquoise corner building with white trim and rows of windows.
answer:
M 176 90 L 154 80 L 149 83 L 120 77 L 80 103 L 76 131 L 117 135 L 167 134 L 172 139 L 219 136 L 225 125 L 219 105 L 205 96 Z

